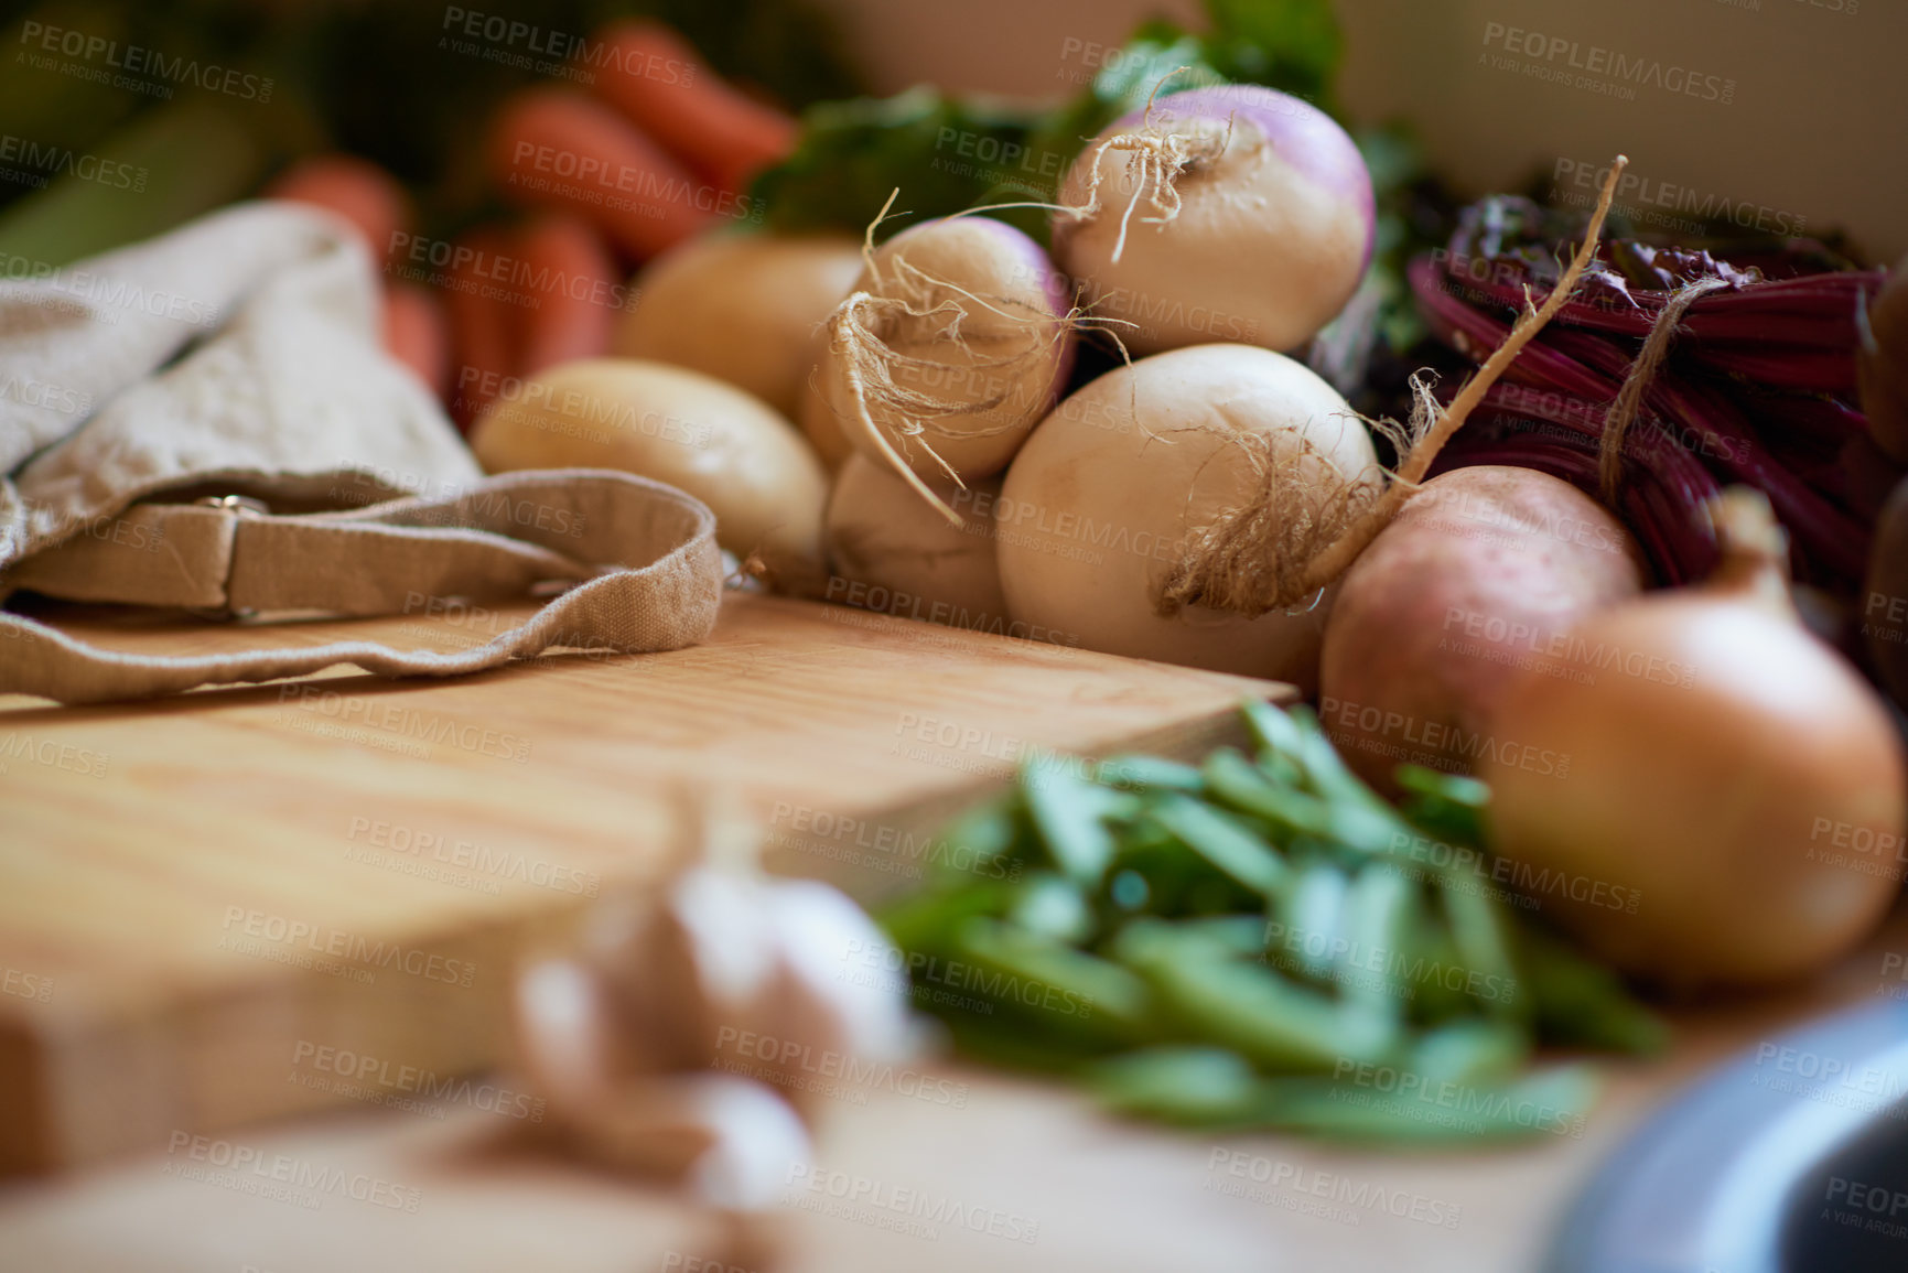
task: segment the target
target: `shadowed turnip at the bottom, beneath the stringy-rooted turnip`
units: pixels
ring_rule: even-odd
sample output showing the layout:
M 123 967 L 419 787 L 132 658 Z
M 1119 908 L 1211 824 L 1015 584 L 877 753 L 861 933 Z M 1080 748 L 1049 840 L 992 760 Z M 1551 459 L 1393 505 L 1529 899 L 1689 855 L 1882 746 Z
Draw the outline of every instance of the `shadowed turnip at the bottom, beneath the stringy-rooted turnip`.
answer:
M 992 510 L 998 492 L 996 481 L 941 490 L 964 513 Z M 828 597 L 956 628 L 1006 628 L 994 523 L 964 523 L 948 525 L 887 466 L 849 456 L 828 496 Z

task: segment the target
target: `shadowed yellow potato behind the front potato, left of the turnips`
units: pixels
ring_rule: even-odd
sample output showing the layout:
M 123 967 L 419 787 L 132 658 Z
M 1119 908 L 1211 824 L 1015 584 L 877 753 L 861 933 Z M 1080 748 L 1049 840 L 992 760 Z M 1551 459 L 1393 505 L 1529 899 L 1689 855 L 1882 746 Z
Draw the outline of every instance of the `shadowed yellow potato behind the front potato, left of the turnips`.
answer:
M 822 323 L 861 265 L 861 240 L 847 235 L 693 239 L 635 277 L 611 353 L 706 372 L 801 420 L 815 414 L 803 403 L 826 349 Z M 826 445 L 817 450 L 830 458 Z

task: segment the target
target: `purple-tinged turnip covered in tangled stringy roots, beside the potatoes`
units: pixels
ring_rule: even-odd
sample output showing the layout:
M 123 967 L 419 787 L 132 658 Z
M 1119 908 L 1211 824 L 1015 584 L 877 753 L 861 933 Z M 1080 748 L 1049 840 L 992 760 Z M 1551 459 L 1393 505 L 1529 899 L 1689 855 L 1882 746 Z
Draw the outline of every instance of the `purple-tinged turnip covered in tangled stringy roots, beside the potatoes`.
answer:
M 916 225 L 868 252 L 828 321 L 822 393 L 859 452 L 954 519 L 931 483 L 1007 466 L 1067 380 L 1068 313 L 1065 281 L 1011 225 Z

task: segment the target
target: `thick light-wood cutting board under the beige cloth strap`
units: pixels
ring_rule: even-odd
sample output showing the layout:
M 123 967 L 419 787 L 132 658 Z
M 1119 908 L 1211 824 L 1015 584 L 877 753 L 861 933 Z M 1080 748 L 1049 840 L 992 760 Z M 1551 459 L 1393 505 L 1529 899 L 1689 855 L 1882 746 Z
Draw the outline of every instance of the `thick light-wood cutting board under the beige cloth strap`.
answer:
M 523 609 L 259 628 L 59 611 L 143 653 L 485 641 Z M 1200 754 L 1269 681 L 733 594 L 702 647 L 456 681 L 0 699 L 0 1170 L 321 1105 L 298 1057 L 502 1055 L 517 952 L 653 878 L 695 802 L 859 893 L 1047 750 Z

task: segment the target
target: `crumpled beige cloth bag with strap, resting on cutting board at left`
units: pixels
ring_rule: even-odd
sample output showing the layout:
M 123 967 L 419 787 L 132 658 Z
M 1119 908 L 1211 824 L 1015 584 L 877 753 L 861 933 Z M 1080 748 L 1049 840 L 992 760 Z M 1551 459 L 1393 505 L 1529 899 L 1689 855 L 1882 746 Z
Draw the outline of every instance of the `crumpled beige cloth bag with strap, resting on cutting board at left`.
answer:
M 0 601 L 227 616 L 393 615 L 420 597 L 561 594 L 458 653 L 368 641 L 139 657 L 0 611 L 0 693 L 59 702 L 267 681 L 332 664 L 452 676 L 551 647 L 708 636 L 716 517 L 595 470 L 483 477 L 378 347 L 359 239 L 321 212 L 240 204 L 50 279 L 0 282 Z M 425 607 L 435 609 L 435 607 Z

